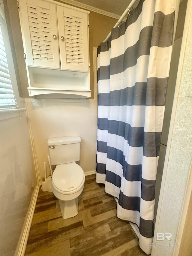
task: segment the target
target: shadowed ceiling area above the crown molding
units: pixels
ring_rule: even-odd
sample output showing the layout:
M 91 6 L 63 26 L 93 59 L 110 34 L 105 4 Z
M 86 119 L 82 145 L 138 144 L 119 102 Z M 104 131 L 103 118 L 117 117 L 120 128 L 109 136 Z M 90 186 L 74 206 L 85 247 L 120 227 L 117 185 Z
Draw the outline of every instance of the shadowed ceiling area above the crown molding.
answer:
M 84 5 L 89 5 L 93 8 L 109 12 L 119 17 L 124 13 L 125 9 L 130 4 L 131 0 L 75 0 Z M 71 1 L 74 2 L 74 1 Z M 139 0 L 136 1 L 133 8 L 137 6 Z

